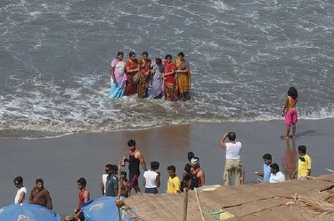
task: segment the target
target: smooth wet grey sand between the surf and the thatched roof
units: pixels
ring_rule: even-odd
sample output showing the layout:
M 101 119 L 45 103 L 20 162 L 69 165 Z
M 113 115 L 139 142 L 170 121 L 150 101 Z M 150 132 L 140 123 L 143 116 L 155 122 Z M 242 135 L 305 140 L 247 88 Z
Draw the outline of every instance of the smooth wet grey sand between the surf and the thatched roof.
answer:
M 305 145 L 312 157 L 311 175 L 327 174 L 325 168 L 334 169 L 333 123 L 333 119 L 300 120 L 295 142 L 280 138 L 285 131 L 283 121 L 200 122 L 61 138 L 3 138 L 0 145 L 0 207 L 12 203 L 16 193 L 12 179 L 22 176 L 29 190 L 36 178 L 43 178 L 53 198 L 53 209 L 61 214 L 71 213 L 77 206 L 77 178 L 86 178 L 91 198 L 99 198 L 104 165 L 116 164 L 127 155 L 129 138 L 136 140 L 148 166 L 151 161 L 160 162 L 163 184 L 160 193 L 166 188 L 167 166 L 174 164 L 181 177 L 189 151 L 200 157 L 207 185 L 222 184 L 224 151 L 219 140 L 225 130 L 233 130 L 243 144 L 241 158 L 247 184 L 257 183 L 254 172 L 262 170 L 265 153 L 273 155 L 273 162 L 277 162 L 282 171 L 285 168 L 287 172 L 293 170 L 299 145 Z

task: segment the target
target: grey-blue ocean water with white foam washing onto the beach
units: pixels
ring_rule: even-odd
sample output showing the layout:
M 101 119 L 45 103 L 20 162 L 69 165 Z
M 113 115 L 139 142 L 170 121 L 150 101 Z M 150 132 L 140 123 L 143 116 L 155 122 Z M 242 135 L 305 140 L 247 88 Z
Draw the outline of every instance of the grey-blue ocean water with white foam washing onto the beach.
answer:
M 2 0 L 0 137 L 334 117 L 331 0 Z M 192 99 L 108 99 L 117 51 L 183 51 Z

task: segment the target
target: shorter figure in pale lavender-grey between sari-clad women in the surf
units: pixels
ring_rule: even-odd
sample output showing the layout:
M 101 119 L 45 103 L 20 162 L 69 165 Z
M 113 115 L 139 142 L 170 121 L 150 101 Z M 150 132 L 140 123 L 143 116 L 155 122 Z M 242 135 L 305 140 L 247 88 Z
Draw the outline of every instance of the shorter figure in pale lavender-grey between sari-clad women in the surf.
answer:
M 152 67 L 152 98 L 161 99 L 164 93 L 164 65 L 162 60 L 157 58 L 155 63 L 151 64 Z

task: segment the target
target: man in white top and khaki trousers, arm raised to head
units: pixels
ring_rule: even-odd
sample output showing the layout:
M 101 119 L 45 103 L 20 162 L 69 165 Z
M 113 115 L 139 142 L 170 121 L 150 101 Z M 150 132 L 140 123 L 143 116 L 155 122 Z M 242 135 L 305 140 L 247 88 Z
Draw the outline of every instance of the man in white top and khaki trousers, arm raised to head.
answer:
M 226 141 L 226 138 L 230 142 Z M 237 141 L 234 132 L 225 132 L 220 140 L 220 146 L 226 151 L 226 162 L 224 169 L 224 185 L 231 185 L 232 175 L 235 176 L 235 185 L 241 184 L 241 143 Z

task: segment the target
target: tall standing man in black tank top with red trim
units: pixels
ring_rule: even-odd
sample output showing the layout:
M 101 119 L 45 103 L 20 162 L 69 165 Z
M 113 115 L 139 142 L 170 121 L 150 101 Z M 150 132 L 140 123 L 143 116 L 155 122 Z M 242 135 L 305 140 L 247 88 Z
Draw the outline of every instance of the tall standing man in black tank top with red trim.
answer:
M 136 148 L 134 139 L 130 139 L 127 142 L 127 146 L 129 147 L 129 158 L 125 158 L 123 161 L 129 162 L 129 192 L 131 192 L 131 189 L 134 188 L 135 193 L 140 193 L 141 189 L 138 185 L 138 178 L 140 175 L 139 164 L 142 164 L 143 170 L 146 171 L 146 163 L 143 158 L 143 154 L 141 154 L 141 152 Z

